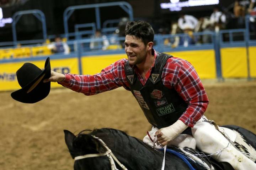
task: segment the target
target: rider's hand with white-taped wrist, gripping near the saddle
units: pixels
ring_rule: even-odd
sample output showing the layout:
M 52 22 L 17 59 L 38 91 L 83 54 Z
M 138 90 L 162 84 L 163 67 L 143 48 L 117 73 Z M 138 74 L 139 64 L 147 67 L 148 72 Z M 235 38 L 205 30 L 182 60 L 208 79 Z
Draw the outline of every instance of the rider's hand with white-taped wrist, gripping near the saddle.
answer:
M 185 125 L 181 120 L 177 120 L 171 126 L 161 128 L 156 131 L 155 136 L 158 138 L 158 143 L 160 143 L 162 146 L 165 146 L 170 143 L 171 140 L 177 137 L 181 132 L 187 129 L 187 127 L 188 126 Z

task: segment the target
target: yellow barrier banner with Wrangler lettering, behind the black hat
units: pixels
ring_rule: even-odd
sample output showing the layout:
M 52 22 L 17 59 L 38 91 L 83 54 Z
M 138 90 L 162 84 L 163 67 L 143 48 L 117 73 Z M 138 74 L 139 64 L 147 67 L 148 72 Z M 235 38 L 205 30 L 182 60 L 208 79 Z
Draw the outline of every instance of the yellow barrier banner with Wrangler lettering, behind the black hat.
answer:
M 15 63 L 0 63 L 0 91 L 14 91 L 21 89 L 18 84 L 16 71 L 26 62 L 44 69 L 45 60 L 23 61 Z M 78 58 L 50 59 L 51 69 L 59 73 L 79 74 Z M 62 87 L 58 83 L 51 83 L 51 87 Z

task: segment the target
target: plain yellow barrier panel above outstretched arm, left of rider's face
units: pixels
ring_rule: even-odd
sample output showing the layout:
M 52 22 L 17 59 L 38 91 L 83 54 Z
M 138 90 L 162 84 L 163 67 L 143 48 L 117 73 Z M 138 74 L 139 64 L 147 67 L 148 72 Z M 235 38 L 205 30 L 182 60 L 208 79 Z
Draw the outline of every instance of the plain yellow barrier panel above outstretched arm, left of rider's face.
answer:
M 100 73 L 103 68 L 123 58 L 127 58 L 127 55 L 84 56 L 81 58 L 82 74 L 94 75 Z

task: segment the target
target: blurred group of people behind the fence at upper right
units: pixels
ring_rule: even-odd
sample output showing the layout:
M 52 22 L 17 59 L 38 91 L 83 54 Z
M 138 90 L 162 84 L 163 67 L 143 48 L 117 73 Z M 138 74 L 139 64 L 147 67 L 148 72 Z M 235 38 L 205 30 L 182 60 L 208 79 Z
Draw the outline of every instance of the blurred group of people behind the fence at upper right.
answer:
M 219 6 L 213 8 L 210 16 L 196 18 L 192 15 L 181 13 L 177 21 L 172 22 L 170 29 L 160 28 L 160 34 L 184 34 L 184 36 L 173 36 L 167 38 L 164 44 L 171 47 L 184 46 L 190 44 L 205 44 L 212 42 L 210 32 L 219 32 L 223 29 L 242 29 L 245 28 L 245 16 L 251 15 L 249 19 L 250 33 L 255 36 L 256 32 L 256 7 L 255 0 L 249 3 L 240 3 L 238 0 L 234 2 L 233 12 L 228 9 L 222 9 Z M 166 31 L 166 30 L 169 30 Z M 194 36 L 194 33 L 202 32 L 201 36 Z

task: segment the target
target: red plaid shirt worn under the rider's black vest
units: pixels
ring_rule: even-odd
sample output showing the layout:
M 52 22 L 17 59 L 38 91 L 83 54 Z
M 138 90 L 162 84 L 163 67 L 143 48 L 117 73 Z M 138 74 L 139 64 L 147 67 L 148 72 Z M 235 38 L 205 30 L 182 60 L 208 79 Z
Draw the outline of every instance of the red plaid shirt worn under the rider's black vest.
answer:
M 156 57 L 157 53 L 155 52 Z M 127 59 L 119 60 L 95 75 L 65 74 L 65 79 L 59 84 L 85 95 L 95 95 L 121 86 L 126 90 L 130 90 L 130 85 L 124 72 L 124 64 L 127 61 Z M 136 67 L 134 69 L 142 85 L 145 85 L 151 69 L 146 73 L 145 78 L 138 74 Z M 206 91 L 196 70 L 188 61 L 171 57 L 167 60 L 163 69 L 162 83 L 169 89 L 174 88 L 183 100 L 188 103 L 187 110 L 179 119 L 186 125 L 193 127 L 196 121 L 202 117 L 209 103 Z

